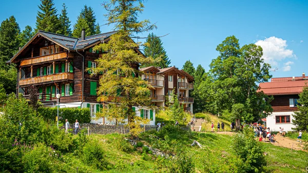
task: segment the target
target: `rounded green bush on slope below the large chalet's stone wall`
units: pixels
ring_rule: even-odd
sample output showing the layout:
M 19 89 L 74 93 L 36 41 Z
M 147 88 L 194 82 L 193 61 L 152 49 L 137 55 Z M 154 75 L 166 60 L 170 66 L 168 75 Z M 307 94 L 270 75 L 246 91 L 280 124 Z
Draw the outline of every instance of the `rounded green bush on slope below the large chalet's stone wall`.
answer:
M 98 141 L 88 142 L 83 147 L 82 161 L 85 164 L 100 170 L 104 170 L 108 166 L 108 163 L 104 158 L 103 148 Z

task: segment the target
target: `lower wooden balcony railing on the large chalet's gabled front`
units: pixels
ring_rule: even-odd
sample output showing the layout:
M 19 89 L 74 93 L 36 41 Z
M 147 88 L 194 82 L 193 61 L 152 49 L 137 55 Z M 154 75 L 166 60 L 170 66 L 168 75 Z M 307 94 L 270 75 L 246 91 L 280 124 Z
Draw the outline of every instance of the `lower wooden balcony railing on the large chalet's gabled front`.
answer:
M 74 73 L 64 72 L 64 73 L 37 76 L 33 78 L 26 78 L 26 79 L 21 79 L 19 84 L 20 86 L 24 86 L 24 85 L 42 84 L 46 82 L 63 81 L 63 80 L 74 80 Z

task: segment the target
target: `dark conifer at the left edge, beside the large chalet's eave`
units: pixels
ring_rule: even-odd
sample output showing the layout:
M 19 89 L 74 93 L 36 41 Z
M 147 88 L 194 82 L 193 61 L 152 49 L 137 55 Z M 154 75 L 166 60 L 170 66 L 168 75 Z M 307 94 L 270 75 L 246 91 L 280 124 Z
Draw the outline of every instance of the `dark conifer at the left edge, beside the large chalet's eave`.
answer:
M 0 69 L 8 70 L 6 62 L 16 53 L 20 45 L 18 34 L 21 29 L 14 16 L 10 16 L 0 26 Z

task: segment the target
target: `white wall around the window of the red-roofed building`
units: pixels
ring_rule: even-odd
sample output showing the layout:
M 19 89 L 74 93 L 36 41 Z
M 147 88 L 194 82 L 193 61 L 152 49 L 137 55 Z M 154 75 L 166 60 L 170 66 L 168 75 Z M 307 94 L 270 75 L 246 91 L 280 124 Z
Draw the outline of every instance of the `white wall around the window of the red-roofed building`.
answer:
M 266 127 L 269 127 L 271 131 L 279 131 L 279 127 L 283 128 L 284 131 L 293 131 L 295 125 L 292 124 L 294 112 L 273 112 L 266 118 Z M 276 124 L 276 116 L 290 116 L 291 123 L 279 123 Z

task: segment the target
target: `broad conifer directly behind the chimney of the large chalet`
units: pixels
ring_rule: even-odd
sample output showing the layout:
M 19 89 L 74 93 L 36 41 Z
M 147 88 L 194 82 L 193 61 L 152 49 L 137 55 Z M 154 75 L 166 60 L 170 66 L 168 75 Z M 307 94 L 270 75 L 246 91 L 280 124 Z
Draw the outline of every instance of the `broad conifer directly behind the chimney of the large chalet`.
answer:
M 80 15 L 77 17 L 77 22 L 73 26 L 72 36 L 81 37 L 81 31 L 84 28 L 86 36 L 100 33 L 99 25 L 95 24 L 96 18 L 91 7 L 87 5 L 81 10 Z

